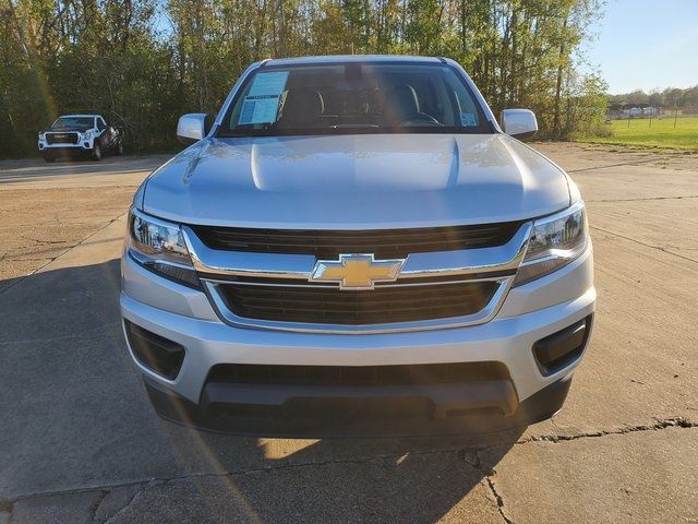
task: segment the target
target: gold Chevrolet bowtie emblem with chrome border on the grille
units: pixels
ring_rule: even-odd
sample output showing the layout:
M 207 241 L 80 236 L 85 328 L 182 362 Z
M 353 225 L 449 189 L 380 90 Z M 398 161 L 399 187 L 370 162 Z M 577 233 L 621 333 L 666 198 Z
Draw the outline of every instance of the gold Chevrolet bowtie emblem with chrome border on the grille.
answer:
M 395 281 L 405 260 L 373 260 L 373 254 L 340 254 L 339 260 L 318 260 L 312 282 L 334 282 L 339 289 L 373 289 L 376 282 Z

